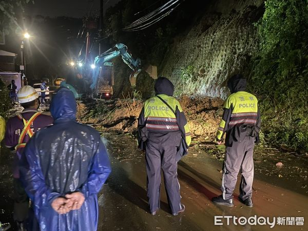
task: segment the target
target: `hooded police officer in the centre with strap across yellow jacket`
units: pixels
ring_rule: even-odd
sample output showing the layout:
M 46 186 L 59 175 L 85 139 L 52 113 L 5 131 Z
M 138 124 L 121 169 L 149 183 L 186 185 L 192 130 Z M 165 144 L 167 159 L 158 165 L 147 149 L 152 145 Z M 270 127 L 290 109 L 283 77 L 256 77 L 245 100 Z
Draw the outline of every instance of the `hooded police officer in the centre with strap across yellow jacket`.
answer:
M 185 210 L 181 203 L 176 155 L 181 141 L 188 147 L 191 138 L 179 101 L 172 98 L 173 92 L 174 85 L 167 78 L 158 78 L 156 96 L 144 103 L 139 115 L 138 145 L 145 150 L 147 196 L 152 215 L 160 208 L 161 168 L 172 215 Z

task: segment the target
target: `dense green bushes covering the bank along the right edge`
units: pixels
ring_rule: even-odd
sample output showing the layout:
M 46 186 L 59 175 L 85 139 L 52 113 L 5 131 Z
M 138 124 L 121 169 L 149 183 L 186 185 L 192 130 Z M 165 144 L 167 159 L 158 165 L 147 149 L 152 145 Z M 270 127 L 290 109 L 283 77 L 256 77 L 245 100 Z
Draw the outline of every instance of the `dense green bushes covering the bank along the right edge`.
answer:
M 257 27 L 249 82 L 260 99 L 265 141 L 307 150 L 308 2 L 267 0 Z

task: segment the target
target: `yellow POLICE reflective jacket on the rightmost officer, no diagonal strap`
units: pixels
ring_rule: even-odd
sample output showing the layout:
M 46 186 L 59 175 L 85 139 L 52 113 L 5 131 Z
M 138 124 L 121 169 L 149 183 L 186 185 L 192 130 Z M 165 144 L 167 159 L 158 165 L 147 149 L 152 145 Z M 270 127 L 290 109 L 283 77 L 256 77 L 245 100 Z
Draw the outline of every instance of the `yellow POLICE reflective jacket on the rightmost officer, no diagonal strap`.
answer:
M 246 91 L 238 91 L 229 95 L 223 105 L 224 113 L 216 134 L 216 140 L 220 141 L 226 133 L 226 145 L 232 145 L 234 128 L 247 126 L 252 128 L 256 134 L 261 127 L 258 100 L 255 95 Z M 252 134 L 252 136 L 255 136 Z

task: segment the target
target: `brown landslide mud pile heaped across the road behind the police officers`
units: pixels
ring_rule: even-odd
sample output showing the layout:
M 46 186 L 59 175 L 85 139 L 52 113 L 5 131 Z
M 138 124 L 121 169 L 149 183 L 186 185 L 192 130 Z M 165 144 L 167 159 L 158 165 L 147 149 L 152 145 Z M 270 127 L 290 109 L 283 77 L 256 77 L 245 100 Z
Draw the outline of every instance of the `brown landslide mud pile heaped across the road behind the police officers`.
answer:
M 183 96 L 179 99 L 195 140 L 213 141 L 222 114 L 219 98 Z M 78 121 L 92 124 L 101 131 L 136 133 L 143 101 L 117 99 L 86 101 L 78 104 Z

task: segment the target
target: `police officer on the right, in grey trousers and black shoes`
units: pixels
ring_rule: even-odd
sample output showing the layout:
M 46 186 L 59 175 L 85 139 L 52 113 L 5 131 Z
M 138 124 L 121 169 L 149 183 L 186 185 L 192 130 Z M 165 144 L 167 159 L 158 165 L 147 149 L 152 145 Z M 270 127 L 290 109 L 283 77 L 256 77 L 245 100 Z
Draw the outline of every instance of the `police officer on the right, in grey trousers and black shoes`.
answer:
M 224 112 L 217 131 L 216 141 L 221 144 L 226 133 L 225 158 L 221 190 L 222 195 L 215 197 L 215 204 L 234 206 L 233 191 L 241 169 L 239 201 L 253 207 L 252 185 L 254 179 L 253 152 L 255 142 L 259 141 L 261 128 L 258 100 L 246 92 L 246 79 L 236 74 L 228 81 L 231 95 L 224 103 Z

